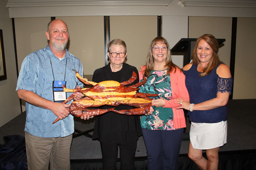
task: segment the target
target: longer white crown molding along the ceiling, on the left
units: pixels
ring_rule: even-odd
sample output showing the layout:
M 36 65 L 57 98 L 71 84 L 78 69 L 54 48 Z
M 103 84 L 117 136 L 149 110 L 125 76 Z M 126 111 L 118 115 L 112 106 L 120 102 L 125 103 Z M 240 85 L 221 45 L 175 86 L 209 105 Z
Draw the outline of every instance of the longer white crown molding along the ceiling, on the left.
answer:
M 1 2 L 2 0 L 0 0 Z M 35 7 L 35 6 L 99 6 L 99 5 L 150 5 L 150 6 L 168 6 L 173 0 L 162 1 L 72 1 L 60 2 L 60 0 L 52 0 L 51 2 L 43 2 L 40 0 L 37 2 L 26 2 L 18 0 L 16 2 L 8 1 L 6 7 Z

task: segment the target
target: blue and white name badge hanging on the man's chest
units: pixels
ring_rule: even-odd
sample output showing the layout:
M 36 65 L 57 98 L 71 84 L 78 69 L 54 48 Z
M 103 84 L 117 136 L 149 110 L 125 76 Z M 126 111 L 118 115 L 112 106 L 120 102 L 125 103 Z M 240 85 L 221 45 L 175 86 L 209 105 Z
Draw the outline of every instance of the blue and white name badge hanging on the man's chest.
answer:
M 67 93 L 63 91 L 66 81 L 52 81 L 53 102 L 62 103 L 67 99 Z

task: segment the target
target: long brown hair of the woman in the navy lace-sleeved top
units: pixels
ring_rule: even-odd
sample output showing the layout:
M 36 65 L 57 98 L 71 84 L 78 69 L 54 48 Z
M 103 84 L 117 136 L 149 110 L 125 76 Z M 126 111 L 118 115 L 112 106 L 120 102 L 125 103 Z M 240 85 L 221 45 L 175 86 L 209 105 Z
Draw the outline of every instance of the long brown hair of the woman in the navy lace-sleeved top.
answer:
M 199 74 L 200 76 L 205 76 L 205 75 L 208 75 L 213 70 L 213 68 L 218 65 L 219 62 L 221 62 L 218 56 L 219 43 L 217 39 L 211 34 L 204 34 L 200 36 L 195 42 L 195 48 L 192 53 L 192 64 L 196 64 L 196 65 L 200 63 L 196 55 L 197 46 L 200 40 L 205 40 L 207 44 L 213 49 L 213 56 L 211 57 L 207 66 Z

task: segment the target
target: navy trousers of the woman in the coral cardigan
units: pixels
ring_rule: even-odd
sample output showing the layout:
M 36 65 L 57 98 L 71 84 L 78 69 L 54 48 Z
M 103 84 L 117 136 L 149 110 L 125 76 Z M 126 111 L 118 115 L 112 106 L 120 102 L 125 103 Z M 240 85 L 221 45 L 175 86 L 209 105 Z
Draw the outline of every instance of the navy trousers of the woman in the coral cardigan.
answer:
M 183 128 L 148 130 L 142 128 L 147 149 L 148 170 L 177 170 Z

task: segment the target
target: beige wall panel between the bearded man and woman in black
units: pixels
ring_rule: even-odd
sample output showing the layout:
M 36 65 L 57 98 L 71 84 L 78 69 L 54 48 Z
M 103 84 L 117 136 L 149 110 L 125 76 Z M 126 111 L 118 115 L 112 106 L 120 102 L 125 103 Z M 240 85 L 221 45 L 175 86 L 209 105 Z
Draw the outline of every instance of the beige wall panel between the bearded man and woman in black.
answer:
M 56 17 L 56 19 L 61 19 L 68 25 L 68 50 L 82 62 L 83 74 L 93 74 L 94 70 L 105 66 L 103 16 Z

